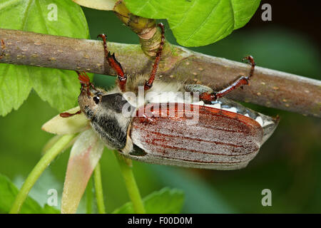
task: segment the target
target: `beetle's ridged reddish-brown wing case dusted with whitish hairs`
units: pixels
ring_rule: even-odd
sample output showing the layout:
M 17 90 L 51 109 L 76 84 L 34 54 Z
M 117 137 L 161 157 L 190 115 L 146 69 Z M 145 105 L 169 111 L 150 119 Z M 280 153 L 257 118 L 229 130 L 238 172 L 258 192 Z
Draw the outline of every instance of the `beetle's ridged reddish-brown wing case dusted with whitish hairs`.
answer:
M 148 105 L 137 112 L 142 113 L 143 108 L 151 110 Z M 263 128 L 251 118 L 203 105 L 190 108 L 178 103 L 166 105 L 165 112 L 153 110 L 153 115 L 160 117 L 153 116 L 147 121 L 133 118 L 131 139 L 146 155 L 131 158 L 162 165 L 225 170 L 244 167 L 260 148 Z M 162 115 L 166 112 L 172 115 Z M 198 120 L 191 125 L 195 115 Z

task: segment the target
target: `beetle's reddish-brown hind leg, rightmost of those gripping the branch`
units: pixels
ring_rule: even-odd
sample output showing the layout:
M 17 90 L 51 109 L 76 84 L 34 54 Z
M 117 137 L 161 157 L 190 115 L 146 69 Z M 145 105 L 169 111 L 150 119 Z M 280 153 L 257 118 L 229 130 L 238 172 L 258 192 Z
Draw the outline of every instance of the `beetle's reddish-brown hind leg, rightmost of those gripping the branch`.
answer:
M 243 60 L 247 60 L 251 64 L 249 76 L 241 76 L 240 78 L 238 78 L 238 80 L 236 80 L 232 84 L 230 84 L 230 86 L 223 88 L 223 90 L 220 90 L 218 92 L 201 93 L 200 100 L 205 100 L 205 101 L 217 100 L 218 98 L 222 98 L 225 94 L 230 93 L 230 91 L 235 90 L 235 88 L 238 88 L 238 87 L 244 86 L 244 85 L 248 85 L 250 78 L 252 78 L 253 74 L 254 74 L 255 61 L 252 56 L 247 56 L 247 57 L 243 58 Z

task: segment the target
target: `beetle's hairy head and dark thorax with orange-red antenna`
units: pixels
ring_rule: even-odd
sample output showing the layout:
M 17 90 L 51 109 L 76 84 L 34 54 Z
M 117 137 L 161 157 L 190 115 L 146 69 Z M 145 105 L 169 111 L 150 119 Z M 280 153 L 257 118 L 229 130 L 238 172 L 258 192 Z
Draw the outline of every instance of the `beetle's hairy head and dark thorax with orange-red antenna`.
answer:
M 78 73 L 81 93 L 78 104 L 81 112 L 91 120 L 91 127 L 111 149 L 121 150 L 126 146 L 128 125 L 131 115 L 123 115 L 123 108 L 129 114 L 135 110 L 123 98 L 123 93 L 95 88 L 86 73 Z

